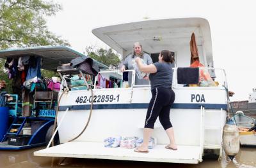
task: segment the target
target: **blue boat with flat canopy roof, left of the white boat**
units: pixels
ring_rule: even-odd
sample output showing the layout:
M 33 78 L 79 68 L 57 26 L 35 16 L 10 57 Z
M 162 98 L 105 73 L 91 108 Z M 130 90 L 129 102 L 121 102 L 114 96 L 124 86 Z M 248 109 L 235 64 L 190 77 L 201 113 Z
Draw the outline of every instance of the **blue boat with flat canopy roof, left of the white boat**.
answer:
M 42 57 L 41 67 L 48 71 L 56 71 L 57 66 L 84 56 L 82 53 L 65 46 L 35 46 L 0 51 L 0 59 L 14 59 L 28 55 Z M 100 62 L 97 62 L 97 64 L 102 69 L 108 68 Z M 22 116 L 22 102 L 19 101 L 18 95 L 13 94 L 10 97 L 12 97 L 12 101 L 6 101 L 5 110 L 0 109 L 0 150 L 23 150 L 47 144 L 52 135 L 56 113 L 54 107 L 56 106 L 58 92 L 53 90 L 35 91 L 31 114 L 36 111 L 35 107 L 38 106 L 38 115 L 26 117 Z M 5 112 L 5 118 L 3 117 L 3 111 Z M 58 138 L 56 139 L 58 141 Z

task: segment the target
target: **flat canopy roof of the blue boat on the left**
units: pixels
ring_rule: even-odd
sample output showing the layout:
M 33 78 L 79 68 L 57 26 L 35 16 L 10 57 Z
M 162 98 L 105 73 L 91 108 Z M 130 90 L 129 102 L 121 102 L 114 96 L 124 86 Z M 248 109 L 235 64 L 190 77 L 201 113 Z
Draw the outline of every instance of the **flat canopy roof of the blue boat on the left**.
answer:
M 0 58 L 22 57 L 26 55 L 34 55 L 42 57 L 42 68 L 50 71 L 56 71 L 58 66 L 70 63 L 72 59 L 83 57 L 82 53 L 76 52 L 67 46 L 36 46 L 28 48 L 13 48 L 0 51 Z M 100 69 L 108 69 L 108 66 L 93 60 Z

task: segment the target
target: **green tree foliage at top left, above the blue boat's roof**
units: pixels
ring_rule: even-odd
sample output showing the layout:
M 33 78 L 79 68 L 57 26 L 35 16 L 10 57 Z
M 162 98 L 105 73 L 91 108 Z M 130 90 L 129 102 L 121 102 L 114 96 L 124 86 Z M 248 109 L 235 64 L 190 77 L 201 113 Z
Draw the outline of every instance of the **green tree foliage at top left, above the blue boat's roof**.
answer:
M 69 45 L 47 30 L 45 17 L 61 10 L 43 0 L 0 0 L 0 49 L 12 46 Z

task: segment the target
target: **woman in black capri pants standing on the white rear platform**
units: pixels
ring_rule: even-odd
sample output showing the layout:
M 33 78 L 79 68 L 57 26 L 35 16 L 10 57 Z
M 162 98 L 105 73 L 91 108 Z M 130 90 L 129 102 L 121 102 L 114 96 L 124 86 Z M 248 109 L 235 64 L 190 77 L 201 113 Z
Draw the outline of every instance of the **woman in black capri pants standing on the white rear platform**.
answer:
M 174 58 L 170 51 L 163 50 L 159 54 L 158 62 L 154 64 L 142 64 L 140 58 L 135 59 L 140 71 L 143 73 L 150 73 L 149 80 L 151 85 L 152 98 L 148 104 L 148 111 L 143 130 L 143 143 L 134 151 L 148 153 L 148 141 L 154 129 L 154 123 L 157 116 L 161 125 L 163 125 L 166 134 L 170 139 L 170 144 L 165 148 L 170 150 L 177 150 L 175 144 L 174 131 L 172 123 L 170 122 L 170 109 L 175 100 L 175 93 L 172 90 L 172 62 Z

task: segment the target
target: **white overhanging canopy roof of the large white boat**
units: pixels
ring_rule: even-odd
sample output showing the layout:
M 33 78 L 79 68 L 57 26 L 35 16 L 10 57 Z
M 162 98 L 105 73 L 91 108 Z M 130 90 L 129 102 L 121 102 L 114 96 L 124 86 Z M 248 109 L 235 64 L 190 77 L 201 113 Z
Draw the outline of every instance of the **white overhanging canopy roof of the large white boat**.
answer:
M 132 52 L 136 41 L 147 53 L 159 53 L 164 49 L 175 52 L 177 48 L 189 46 L 191 34 L 195 32 L 197 46 L 203 45 L 206 59 L 212 61 L 211 32 L 204 18 L 145 20 L 100 27 L 92 32 L 123 56 Z

